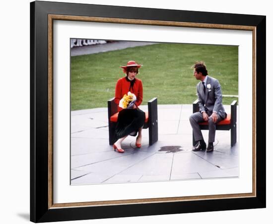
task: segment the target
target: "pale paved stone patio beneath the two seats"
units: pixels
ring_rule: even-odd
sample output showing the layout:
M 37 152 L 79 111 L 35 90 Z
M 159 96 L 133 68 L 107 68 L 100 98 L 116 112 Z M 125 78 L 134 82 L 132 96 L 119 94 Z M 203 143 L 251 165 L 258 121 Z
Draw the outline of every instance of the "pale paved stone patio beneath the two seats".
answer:
M 125 153 L 118 153 L 109 145 L 107 108 L 72 111 L 71 185 L 238 177 L 238 136 L 230 147 L 230 131 L 217 130 L 212 153 L 193 152 L 191 113 L 192 105 L 158 105 L 158 141 L 149 146 L 143 129 L 140 149 L 129 136 Z M 202 132 L 207 141 L 208 131 Z

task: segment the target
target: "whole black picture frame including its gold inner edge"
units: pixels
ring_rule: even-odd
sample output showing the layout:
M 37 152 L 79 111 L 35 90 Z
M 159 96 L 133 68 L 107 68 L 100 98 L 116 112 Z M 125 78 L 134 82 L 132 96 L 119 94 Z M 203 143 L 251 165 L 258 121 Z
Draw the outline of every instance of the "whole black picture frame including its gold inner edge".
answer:
M 53 21 L 251 30 L 253 192 L 55 204 L 53 201 Z M 266 207 L 266 16 L 63 2 L 30 3 L 30 220 L 56 222 Z

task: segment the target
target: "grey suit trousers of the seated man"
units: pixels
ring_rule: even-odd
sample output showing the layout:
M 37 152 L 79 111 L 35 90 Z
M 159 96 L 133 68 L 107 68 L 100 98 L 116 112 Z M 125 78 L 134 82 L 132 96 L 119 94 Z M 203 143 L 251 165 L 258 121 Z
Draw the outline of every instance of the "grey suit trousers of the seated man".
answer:
M 207 112 L 207 115 L 210 116 L 211 114 L 209 114 Z M 224 119 L 221 116 L 218 116 L 217 122 L 219 122 L 220 120 Z M 203 119 L 203 115 L 201 112 L 195 112 L 190 116 L 190 123 L 192 125 L 193 128 L 193 132 L 194 132 L 194 138 L 196 141 L 200 141 L 200 140 L 204 140 L 200 126 L 199 126 L 199 122 L 204 122 L 205 120 Z M 209 117 L 208 118 L 208 142 L 214 142 L 215 140 L 215 131 L 216 131 L 216 123 L 214 123 L 212 121 L 212 118 Z

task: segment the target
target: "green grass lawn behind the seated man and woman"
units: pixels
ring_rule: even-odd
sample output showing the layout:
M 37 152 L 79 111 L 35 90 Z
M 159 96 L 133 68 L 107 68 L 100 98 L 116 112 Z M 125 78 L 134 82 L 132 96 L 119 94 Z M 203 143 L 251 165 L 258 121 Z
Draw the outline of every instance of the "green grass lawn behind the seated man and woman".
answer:
M 223 95 L 238 95 L 238 47 L 204 44 L 160 43 L 71 57 L 71 110 L 107 107 L 115 85 L 124 77 L 120 65 L 135 60 L 143 66 L 137 78 L 143 83 L 143 102 L 192 104 L 199 82 L 192 65 L 203 60 L 208 75 L 219 80 Z M 229 105 L 238 98 L 223 97 Z

